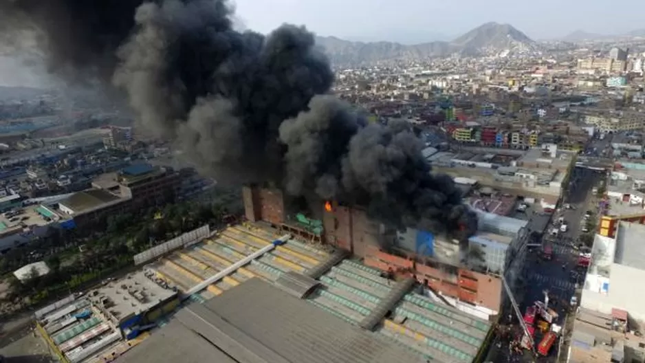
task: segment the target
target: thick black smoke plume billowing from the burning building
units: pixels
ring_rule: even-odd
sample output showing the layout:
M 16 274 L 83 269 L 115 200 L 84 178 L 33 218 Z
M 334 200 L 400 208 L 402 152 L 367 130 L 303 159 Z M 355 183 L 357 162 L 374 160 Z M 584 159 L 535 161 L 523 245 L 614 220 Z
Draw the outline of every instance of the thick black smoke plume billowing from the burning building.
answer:
M 39 34 L 52 72 L 124 90 L 140 126 L 220 181 L 360 203 L 399 226 L 477 228 L 409 126 L 367 124 L 327 95 L 334 75 L 305 28 L 239 32 L 225 0 L 4 0 L 0 31 Z

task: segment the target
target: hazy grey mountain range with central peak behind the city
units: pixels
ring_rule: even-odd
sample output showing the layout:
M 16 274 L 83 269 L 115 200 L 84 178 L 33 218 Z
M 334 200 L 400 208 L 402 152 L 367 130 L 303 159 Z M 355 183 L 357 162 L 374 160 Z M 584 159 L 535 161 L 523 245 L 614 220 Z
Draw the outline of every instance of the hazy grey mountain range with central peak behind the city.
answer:
M 335 36 L 318 36 L 334 65 L 368 65 L 386 61 L 422 61 L 461 54 L 477 56 L 505 50 L 536 50 L 536 42 L 509 24 L 485 23 L 452 41 L 432 41 L 415 45 L 395 42 L 356 42 Z

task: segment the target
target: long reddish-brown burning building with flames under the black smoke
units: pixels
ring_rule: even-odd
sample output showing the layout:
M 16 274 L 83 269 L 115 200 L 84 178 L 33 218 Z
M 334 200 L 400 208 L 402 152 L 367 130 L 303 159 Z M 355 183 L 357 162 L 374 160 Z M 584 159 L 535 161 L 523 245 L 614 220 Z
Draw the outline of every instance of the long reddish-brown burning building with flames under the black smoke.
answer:
M 369 217 L 366 209 L 343 206 L 338 201 L 320 203 L 319 210 L 311 212 L 321 216 L 317 220 L 290 217 L 297 214 L 287 210 L 289 203 L 277 189 L 245 186 L 243 198 L 246 217 L 250 221 L 265 221 L 307 241 L 347 250 L 360 257 L 365 265 L 378 268 L 384 274 L 413 276 L 449 303 L 462 304 L 472 311 L 479 309 L 480 316 L 494 315 L 500 309 L 501 278 L 463 265 L 459 259 L 463 255 L 459 241 L 413 228 L 408 228 L 405 233 L 397 232 L 393 225 Z M 322 225 L 322 228 L 312 230 L 312 225 Z M 413 250 L 396 242 L 406 237 L 414 239 L 417 248 Z M 433 249 L 433 253 L 420 248 Z M 450 251 L 456 255 L 455 259 L 447 257 L 451 256 Z

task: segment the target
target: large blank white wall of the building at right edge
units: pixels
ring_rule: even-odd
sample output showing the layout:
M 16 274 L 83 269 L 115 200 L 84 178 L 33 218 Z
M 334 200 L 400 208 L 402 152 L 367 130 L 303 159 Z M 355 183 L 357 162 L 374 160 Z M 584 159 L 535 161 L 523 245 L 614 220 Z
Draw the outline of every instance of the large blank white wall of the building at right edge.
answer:
M 624 309 L 633 318 L 645 320 L 645 289 L 638 287 L 639 281 L 645 281 L 644 270 L 612 264 L 608 291 L 587 289 L 585 283 L 580 305 L 604 314 L 611 314 L 612 308 Z

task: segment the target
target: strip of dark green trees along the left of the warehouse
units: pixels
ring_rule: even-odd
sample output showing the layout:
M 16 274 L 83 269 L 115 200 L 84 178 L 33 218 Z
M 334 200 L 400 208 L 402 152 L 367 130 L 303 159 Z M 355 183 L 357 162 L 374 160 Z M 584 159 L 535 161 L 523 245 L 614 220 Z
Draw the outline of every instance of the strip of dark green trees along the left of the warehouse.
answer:
M 169 204 L 140 213 L 108 217 L 102 230 L 81 236 L 80 231 L 52 228 L 51 233 L 30 245 L 0 257 L 0 269 L 12 287 L 6 302 L 34 305 L 68 294 L 99 278 L 132 265 L 133 255 L 206 223 L 219 223 L 228 213 L 238 214 L 236 195 Z M 33 274 L 20 283 L 10 272 L 35 261 L 45 261 L 52 272 Z M 26 299 L 25 299 L 26 298 Z

